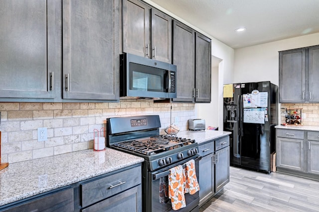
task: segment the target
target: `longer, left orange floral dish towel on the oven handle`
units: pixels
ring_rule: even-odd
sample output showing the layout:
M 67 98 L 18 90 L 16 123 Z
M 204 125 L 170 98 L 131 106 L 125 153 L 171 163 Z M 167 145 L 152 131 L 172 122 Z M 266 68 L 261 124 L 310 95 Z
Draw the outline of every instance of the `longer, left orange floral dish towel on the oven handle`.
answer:
M 185 174 L 181 165 L 169 169 L 168 176 L 168 197 L 171 202 L 171 208 L 176 211 L 186 207 L 185 202 Z

